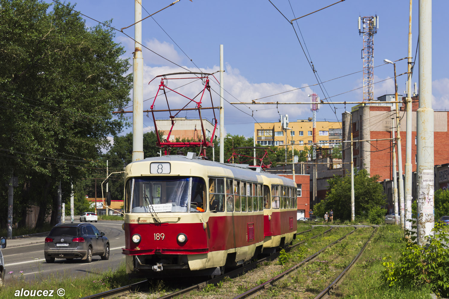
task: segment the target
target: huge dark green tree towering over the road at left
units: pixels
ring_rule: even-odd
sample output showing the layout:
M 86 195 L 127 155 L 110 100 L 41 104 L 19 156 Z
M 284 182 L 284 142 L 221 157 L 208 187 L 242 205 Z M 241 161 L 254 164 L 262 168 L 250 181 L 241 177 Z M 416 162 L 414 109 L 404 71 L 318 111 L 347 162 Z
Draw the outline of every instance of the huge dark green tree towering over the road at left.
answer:
M 38 225 L 50 210 L 54 223 L 58 183 L 67 198 L 70 182 L 106 167 L 99 156 L 107 137 L 126 124 L 110 112 L 130 100 L 130 64 L 110 28 L 88 28 L 62 5 L 0 0 L 0 20 L 0 101 L 8 111 L 0 115 L 1 181 L 19 177 L 15 219 L 35 204 Z

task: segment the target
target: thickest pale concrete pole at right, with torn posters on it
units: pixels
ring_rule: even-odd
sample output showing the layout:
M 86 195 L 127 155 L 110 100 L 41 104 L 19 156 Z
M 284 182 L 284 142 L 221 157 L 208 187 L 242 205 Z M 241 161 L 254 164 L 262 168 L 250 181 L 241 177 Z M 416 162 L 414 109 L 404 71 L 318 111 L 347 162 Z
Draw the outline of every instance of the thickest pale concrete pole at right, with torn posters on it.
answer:
M 418 245 L 427 243 L 434 226 L 434 148 L 432 109 L 432 1 L 419 0 L 419 108 L 416 112 L 418 157 Z

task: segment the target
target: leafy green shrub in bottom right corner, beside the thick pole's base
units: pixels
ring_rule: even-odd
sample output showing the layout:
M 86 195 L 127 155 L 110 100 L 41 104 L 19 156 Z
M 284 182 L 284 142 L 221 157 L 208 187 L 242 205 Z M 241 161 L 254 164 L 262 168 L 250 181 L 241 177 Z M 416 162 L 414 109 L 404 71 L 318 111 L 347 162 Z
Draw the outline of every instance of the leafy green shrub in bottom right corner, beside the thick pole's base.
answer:
M 384 257 L 381 280 L 392 287 L 429 286 L 439 296 L 449 295 L 449 233 L 444 224 L 436 223 L 432 229 L 435 236 L 429 238 L 424 246 L 413 243 L 401 248 L 397 264 L 391 256 Z M 410 233 L 410 232 L 409 232 Z

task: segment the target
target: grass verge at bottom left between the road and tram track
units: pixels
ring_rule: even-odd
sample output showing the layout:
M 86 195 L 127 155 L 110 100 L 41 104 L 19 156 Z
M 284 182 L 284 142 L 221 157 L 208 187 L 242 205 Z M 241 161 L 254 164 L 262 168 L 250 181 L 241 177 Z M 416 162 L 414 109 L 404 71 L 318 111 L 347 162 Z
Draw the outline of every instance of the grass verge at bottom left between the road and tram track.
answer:
M 124 262 L 114 271 L 109 269 L 100 275 L 88 273 L 82 277 L 73 277 L 67 273 L 53 273 L 44 277 L 38 273 L 35 274 L 34 282 L 28 282 L 24 280 L 23 273 L 16 275 L 16 273 L 9 274 L 7 272 L 6 275 L 13 276 L 13 280 L 0 287 L 0 298 L 2 299 L 17 298 L 15 293 L 22 288 L 24 290 L 54 290 L 53 298 L 78 299 L 142 280 L 129 279 Z M 65 290 L 64 297 L 56 295 L 56 291 L 60 288 Z

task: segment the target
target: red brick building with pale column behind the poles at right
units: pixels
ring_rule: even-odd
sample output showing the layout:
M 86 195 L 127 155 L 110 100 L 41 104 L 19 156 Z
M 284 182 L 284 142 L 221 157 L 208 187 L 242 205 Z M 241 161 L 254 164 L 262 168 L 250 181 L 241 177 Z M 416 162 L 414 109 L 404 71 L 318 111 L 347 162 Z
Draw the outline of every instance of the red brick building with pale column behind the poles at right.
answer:
M 391 99 L 392 95 L 380 98 Z M 401 97 L 402 98 L 402 97 Z M 402 149 L 402 169 L 405 169 L 405 98 L 400 105 L 400 131 Z M 366 139 L 392 138 L 392 118 L 395 117 L 395 104 L 388 101 L 384 103 L 361 104 L 352 107 L 351 113 L 342 113 L 343 141 L 351 140 L 351 130 L 354 140 L 353 160 L 354 167 L 366 169 L 371 175 L 379 174 L 381 180 L 392 179 L 392 141 L 357 142 Z M 418 96 L 412 98 L 412 167 L 416 171 L 416 110 L 418 109 Z M 445 164 L 449 161 L 449 132 L 447 111 L 434 112 L 434 144 L 435 164 Z M 395 134 L 396 136 L 396 134 Z M 351 144 L 343 143 L 343 162 L 351 160 Z M 343 173 L 350 172 L 350 167 L 343 164 Z

